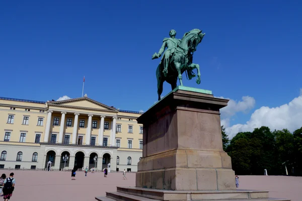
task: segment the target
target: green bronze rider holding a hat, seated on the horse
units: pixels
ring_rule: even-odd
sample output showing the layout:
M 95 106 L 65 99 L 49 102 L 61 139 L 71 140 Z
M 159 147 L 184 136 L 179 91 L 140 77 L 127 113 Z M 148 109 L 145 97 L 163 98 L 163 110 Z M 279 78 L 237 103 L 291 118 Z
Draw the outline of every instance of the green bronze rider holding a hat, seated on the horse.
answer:
M 152 56 L 152 59 L 157 59 L 160 58 L 160 56 L 163 54 L 163 52 L 165 51 L 166 47 L 167 50 L 165 52 L 165 55 L 162 57 L 162 60 L 164 58 L 164 70 L 163 73 L 165 75 L 165 77 L 168 74 L 168 65 L 169 65 L 169 61 L 170 61 L 170 56 L 175 52 L 178 43 L 181 41 L 180 39 L 176 39 L 176 31 L 175 30 L 171 30 L 170 33 L 170 38 L 164 38 L 163 40 L 163 45 L 159 51 L 159 53 L 155 53 Z M 188 74 L 189 74 L 189 79 L 192 79 L 192 77 L 195 77 L 196 75 L 192 72 L 192 70 L 188 70 Z

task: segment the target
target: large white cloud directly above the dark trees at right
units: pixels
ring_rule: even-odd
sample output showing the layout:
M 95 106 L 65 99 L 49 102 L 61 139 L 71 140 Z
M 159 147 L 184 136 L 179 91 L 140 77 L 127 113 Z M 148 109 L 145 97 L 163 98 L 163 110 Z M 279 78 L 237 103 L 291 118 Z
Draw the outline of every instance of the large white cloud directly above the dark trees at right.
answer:
M 301 92 L 301 89 L 300 89 Z M 236 124 L 225 129 L 230 138 L 239 132 L 253 131 L 255 128 L 267 126 L 271 130 L 288 129 L 290 132 L 302 126 L 302 94 L 288 104 L 280 107 L 261 107 L 256 110 L 246 124 Z

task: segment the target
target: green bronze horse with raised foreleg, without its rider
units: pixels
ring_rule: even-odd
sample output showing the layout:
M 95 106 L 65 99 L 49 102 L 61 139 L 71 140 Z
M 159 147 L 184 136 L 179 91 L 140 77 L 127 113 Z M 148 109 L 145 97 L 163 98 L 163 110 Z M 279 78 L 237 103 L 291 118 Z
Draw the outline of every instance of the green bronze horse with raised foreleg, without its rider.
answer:
M 196 51 L 196 47 L 201 42 L 204 35 L 205 34 L 203 34 L 202 31 L 199 29 L 193 29 L 184 34 L 180 43 L 177 45 L 175 52 L 172 54 L 172 56 L 170 56 L 167 76 L 163 74 L 164 58 L 162 58 L 162 61 L 156 69 L 159 100 L 161 99 L 161 94 L 163 92 L 164 81 L 167 81 L 169 84 L 171 84 L 172 90 L 177 86 L 177 78 L 180 81 L 180 85 L 183 86 L 182 73 L 185 70 L 193 70 L 196 68 L 196 83 L 200 84 L 199 65 L 192 63 L 192 61 L 193 52 Z

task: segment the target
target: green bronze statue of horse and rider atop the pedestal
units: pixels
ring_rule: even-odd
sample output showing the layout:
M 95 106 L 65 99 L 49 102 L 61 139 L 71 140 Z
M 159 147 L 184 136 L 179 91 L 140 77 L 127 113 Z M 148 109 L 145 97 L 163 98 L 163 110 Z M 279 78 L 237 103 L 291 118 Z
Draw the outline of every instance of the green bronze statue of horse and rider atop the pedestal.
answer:
M 171 84 L 173 90 L 177 86 L 178 78 L 180 85 L 182 86 L 182 73 L 184 71 L 187 71 L 189 79 L 192 79 L 196 76 L 192 70 L 196 68 L 196 83 L 200 84 L 199 65 L 192 62 L 193 52 L 196 51 L 197 45 L 201 42 L 205 34 L 203 34 L 199 29 L 193 29 L 185 33 L 182 39 L 175 38 L 175 30 L 171 30 L 169 35 L 170 38 L 165 38 L 163 40 L 163 45 L 159 53 L 155 53 L 152 56 L 152 59 L 160 58 L 167 48 L 156 70 L 159 100 L 161 99 L 161 94 L 163 92 L 164 81 Z

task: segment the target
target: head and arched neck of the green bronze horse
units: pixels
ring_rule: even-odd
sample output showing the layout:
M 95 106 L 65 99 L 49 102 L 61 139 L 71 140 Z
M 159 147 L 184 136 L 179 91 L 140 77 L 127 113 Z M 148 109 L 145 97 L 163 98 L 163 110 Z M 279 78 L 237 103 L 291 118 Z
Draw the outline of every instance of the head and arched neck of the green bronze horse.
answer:
M 182 41 L 186 42 L 188 52 L 195 52 L 197 45 L 201 42 L 203 36 L 202 30 L 193 29 L 184 34 Z

